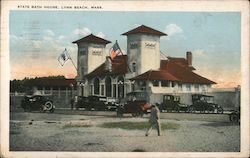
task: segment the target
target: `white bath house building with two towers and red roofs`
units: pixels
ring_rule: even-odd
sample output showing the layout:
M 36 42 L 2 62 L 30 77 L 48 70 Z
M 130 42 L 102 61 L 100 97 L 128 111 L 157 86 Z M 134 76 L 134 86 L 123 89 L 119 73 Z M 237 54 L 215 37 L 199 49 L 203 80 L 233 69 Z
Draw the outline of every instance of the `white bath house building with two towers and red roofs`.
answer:
M 141 25 L 123 33 L 127 54 L 111 59 L 105 48 L 111 42 L 90 34 L 74 41 L 77 54 L 78 96 L 123 98 L 131 92 L 145 92 L 151 103 L 161 102 L 164 94 L 181 95 L 208 92 L 215 82 L 195 73 L 192 53 L 185 58 L 162 58 L 160 38 L 167 34 Z

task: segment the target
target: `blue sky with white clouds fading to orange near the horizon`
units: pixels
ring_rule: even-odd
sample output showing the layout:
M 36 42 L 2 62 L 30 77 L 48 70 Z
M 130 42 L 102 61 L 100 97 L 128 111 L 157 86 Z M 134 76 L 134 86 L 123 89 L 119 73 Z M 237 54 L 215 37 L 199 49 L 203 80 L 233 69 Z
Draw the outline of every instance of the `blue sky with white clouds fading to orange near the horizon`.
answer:
M 116 40 L 126 53 L 121 34 L 143 24 L 168 34 L 160 41 L 166 56 L 185 58 L 191 51 L 195 72 L 215 81 L 213 87 L 240 85 L 239 12 L 11 11 L 9 18 L 11 79 L 73 78 L 73 64 L 62 67 L 57 61 L 67 48 L 76 63 L 73 41 L 93 33 L 112 42 L 107 55 Z

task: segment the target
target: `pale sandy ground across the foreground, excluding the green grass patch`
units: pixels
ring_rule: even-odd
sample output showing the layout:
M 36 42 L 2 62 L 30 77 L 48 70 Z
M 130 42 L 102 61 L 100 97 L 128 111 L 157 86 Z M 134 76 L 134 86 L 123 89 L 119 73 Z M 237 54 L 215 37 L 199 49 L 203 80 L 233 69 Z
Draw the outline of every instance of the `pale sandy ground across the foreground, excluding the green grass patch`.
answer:
M 189 116 L 191 117 L 191 115 L 186 117 Z M 165 130 L 160 137 L 155 130 L 149 137 L 145 137 L 145 130 L 106 129 L 98 126 L 104 122 L 147 120 L 147 117 L 120 119 L 111 116 L 13 112 L 10 121 L 10 150 L 90 152 L 137 150 L 237 152 L 240 150 L 240 126 L 225 121 L 162 119 L 161 122 L 174 122 L 181 127 L 177 130 Z M 70 122 L 90 123 L 93 126 L 63 128 Z

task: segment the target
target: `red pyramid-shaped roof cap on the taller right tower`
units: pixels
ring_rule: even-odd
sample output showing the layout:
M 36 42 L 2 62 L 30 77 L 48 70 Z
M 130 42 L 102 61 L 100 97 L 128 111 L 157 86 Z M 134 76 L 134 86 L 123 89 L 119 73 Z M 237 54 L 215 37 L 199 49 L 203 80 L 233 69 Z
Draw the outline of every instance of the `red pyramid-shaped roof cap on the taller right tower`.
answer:
M 131 35 L 131 34 L 138 34 L 138 33 L 143 33 L 143 34 L 153 34 L 153 35 L 158 35 L 158 36 L 167 36 L 167 34 L 157 31 L 153 28 L 150 28 L 145 25 L 141 25 L 133 30 L 130 30 L 128 32 L 123 33 L 122 35 Z

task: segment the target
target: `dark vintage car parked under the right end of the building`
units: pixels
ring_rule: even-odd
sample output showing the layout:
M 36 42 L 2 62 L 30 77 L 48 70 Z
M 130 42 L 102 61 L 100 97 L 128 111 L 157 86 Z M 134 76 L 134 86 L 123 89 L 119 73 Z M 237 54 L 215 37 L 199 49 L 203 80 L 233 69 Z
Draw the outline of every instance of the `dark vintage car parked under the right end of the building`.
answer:
M 195 113 L 218 113 L 223 114 L 223 108 L 214 103 L 214 96 L 193 94 L 192 105 L 189 107 L 189 112 Z

